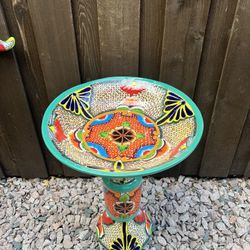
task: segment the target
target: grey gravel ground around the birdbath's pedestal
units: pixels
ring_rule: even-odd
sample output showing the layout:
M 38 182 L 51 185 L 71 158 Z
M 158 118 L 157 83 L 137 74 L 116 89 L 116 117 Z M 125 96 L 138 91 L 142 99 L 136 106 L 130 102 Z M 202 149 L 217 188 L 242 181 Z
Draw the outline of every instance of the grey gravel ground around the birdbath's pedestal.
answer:
M 250 250 L 250 180 L 145 178 L 155 224 L 146 249 Z M 0 249 L 100 249 L 100 178 L 0 180 Z

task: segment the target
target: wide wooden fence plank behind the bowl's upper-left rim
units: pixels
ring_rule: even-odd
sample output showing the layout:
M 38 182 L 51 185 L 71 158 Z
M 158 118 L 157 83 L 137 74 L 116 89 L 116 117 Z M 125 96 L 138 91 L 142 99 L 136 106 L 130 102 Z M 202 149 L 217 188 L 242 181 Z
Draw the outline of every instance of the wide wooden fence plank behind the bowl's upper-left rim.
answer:
M 80 83 L 71 1 L 28 0 L 28 7 L 50 102 Z M 65 166 L 63 172 L 65 176 L 83 175 Z

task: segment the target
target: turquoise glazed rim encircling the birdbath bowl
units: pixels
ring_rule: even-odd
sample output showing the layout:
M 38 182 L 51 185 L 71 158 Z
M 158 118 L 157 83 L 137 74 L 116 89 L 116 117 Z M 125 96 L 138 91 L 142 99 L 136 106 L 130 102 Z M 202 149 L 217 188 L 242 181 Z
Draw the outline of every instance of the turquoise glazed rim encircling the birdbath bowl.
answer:
M 92 85 L 92 84 L 96 84 L 96 83 L 104 83 L 106 81 L 115 81 L 115 80 L 126 80 L 126 79 L 133 79 L 133 80 L 142 80 L 142 81 L 146 81 L 158 86 L 161 86 L 164 89 L 168 89 L 171 90 L 175 93 L 177 93 L 178 95 L 180 95 L 182 98 L 184 98 L 185 100 L 188 101 L 189 105 L 192 107 L 194 114 L 195 114 L 195 120 L 196 120 L 196 134 L 193 137 L 193 141 L 192 144 L 179 156 L 176 157 L 164 164 L 161 164 L 157 167 L 153 167 L 150 169 L 145 169 L 143 171 L 135 171 L 135 172 L 108 172 L 108 171 L 102 171 L 102 170 L 98 170 L 98 169 L 93 169 L 93 168 L 89 168 L 87 166 L 82 166 L 74 161 L 71 161 L 70 159 L 64 157 L 55 147 L 55 145 L 53 144 L 53 142 L 50 140 L 49 135 L 48 135 L 48 130 L 47 130 L 47 124 L 49 121 L 49 116 L 52 113 L 52 111 L 54 110 L 54 108 L 56 107 L 56 105 L 67 95 L 71 94 L 73 91 L 78 90 L 79 88 L 88 86 L 88 85 Z M 146 175 L 152 175 L 152 174 L 156 174 L 159 172 L 162 172 L 164 170 L 170 169 L 174 166 L 176 166 L 177 164 L 179 164 L 180 162 L 182 162 L 183 160 L 185 160 L 197 147 L 197 145 L 200 142 L 200 139 L 202 137 L 202 133 L 204 130 L 204 124 L 203 124 L 203 118 L 201 115 L 200 110 L 198 109 L 198 107 L 196 106 L 196 104 L 192 101 L 192 99 L 190 97 L 188 97 L 186 94 L 184 94 L 182 91 L 176 89 L 175 87 L 172 87 L 169 84 L 163 83 L 163 82 L 159 82 L 159 81 L 155 81 L 155 80 L 151 80 L 151 79 L 147 79 L 147 78 L 141 78 L 141 77 L 129 77 L 129 76 L 114 76 L 114 77 L 106 77 L 106 78 L 101 78 L 101 79 L 97 79 L 94 81 L 90 81 L 84 84 L 79 84 L 77 86 L 74 86 L 66 91 L 64 91 L 63 93 L 61 93 L 59 96 L 57 96 L 48 106 L 48 108 L 46 109 L 44 116 L 43 116 L 43 120 L 42 120 L 42 137 L 43 140 L 47 146 L 47 148 L 49 149 L 49 151 L 54 155 L 54 157 L 56 157 L 61 163 L 65 164 L 66 166 L 82 172 L 82 173 L 87 173 L 90 175 L 94 175 L 94 176 L 101 176 L 101 177 L 117 177 L 117 178 L 125 178 L 125 177 L 136 177 L 136 176 L 146 176 Z

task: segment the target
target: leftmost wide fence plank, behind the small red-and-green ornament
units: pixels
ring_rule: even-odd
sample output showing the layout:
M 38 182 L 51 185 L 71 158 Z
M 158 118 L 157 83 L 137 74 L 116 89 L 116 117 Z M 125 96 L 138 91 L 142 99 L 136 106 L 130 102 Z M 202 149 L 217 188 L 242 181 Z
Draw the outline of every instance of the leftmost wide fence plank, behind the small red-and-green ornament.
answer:
M 0 4 L 0 37 L 8 29 Z M 0 56 L 0 157 L 7 176 L 47 177 L 42 156 L 13 51 Z

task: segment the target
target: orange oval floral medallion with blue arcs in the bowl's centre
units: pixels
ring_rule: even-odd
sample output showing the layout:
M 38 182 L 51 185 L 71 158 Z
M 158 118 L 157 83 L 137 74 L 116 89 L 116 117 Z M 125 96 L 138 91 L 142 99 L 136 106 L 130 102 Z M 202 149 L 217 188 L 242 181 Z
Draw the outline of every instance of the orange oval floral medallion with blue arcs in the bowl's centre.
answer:
M 80 131 L 76 141 L 97 157 L 115 162 L 143 159 L 160 143 L 160 131 L 153 120 L 128 110 L 103 113 Z

